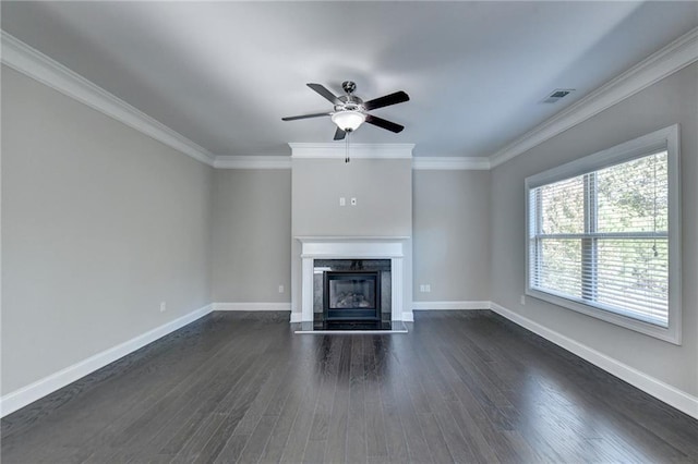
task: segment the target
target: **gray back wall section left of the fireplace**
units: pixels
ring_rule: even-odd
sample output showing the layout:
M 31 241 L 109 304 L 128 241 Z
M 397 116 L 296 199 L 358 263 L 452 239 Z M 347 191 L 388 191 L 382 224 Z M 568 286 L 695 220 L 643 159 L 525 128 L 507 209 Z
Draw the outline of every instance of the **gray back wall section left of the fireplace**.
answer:
M 291 171 L 217 170 L 213 211 L 214 302 L 290 302 Z

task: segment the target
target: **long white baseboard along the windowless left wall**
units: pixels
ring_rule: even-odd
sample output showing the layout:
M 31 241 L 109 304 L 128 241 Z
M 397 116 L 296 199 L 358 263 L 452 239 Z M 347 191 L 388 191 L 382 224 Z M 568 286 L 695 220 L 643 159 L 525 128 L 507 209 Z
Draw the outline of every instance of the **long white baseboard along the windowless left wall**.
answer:
M 19 390 L 3 395 L 0 398 L 0 417 L 12 414 L 27 404 L 31 404 L 36 400 L 39 400 L 47 394 L 85 377 L 86 375 L 92 374 L 139 349 L 142 349 L 148 343 L 181 329 L 188 323 L 206 316 L 210 312 L 212 305 L 206 305 L 200 309 L 189 313 L 188 315 L 156 327 L 153 330 L 148 330 L 139 337 L 105 350 L 101 353 L 89 356 L 86 359 L 59 370 L 58 373 L 51 374 L 48 377 L 44 377 L 43 379 L 29 383 L 26 387 L 22 387 Z

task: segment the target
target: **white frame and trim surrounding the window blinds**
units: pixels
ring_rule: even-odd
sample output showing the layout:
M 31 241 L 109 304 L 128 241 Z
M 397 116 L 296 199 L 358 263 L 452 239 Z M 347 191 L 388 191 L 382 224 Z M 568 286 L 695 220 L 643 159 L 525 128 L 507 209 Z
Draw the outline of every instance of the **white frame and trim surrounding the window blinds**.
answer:
M 540 172 L 525 180 L 525 249 L 526 249 L 526 284 L 525 294 L 538 300 L 553 303 L 563 308 L 571 309 L 606 322 L 614 323 L 673 344 L 682 343 L 682 306 L 681 306 L 681 171 L 679 171 L 679 127 L 678 124 L 661 129 L 641 137 L 625 142 L 609 149 L 585 156 L 571 162 Z M 531 286 L 530 240 L 534 231 L 532 208 L 530 206 L 531 191 L 542 185 L 563 181 L 611 166 L 631 161 L 659 150 L 667 152 L 669 175 L 669 327 L 660 327 L 650 322 L 625 316 L 597 306 L 573 300 L 555 292 L 544 292 Z M 586 202 L 585 202 L 586 204 Z M 587 209 L 585 207 L 585 209 Z M 585 211 L 587 213 L 587 211 Z

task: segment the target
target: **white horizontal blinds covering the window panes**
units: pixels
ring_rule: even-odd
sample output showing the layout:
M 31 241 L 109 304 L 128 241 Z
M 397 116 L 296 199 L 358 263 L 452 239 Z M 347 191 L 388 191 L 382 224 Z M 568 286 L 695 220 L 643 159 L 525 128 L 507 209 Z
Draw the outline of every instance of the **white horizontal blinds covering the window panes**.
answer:
M 669 327 L 669 156 L 529 190 L 529 288 Z

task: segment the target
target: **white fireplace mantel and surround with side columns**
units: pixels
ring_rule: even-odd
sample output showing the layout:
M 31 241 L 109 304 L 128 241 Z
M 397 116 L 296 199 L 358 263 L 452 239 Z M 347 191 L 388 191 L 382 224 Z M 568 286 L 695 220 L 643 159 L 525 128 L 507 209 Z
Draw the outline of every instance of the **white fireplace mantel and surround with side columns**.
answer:
M 390 259 L 392 319 L 402 320 L 405 243 L 409 236 L 297 236 L 301 242 L 301 321 L 313 320 L 315 259 Z

